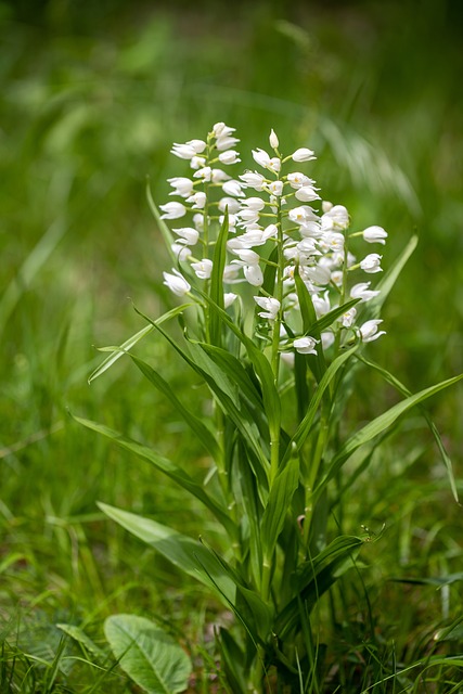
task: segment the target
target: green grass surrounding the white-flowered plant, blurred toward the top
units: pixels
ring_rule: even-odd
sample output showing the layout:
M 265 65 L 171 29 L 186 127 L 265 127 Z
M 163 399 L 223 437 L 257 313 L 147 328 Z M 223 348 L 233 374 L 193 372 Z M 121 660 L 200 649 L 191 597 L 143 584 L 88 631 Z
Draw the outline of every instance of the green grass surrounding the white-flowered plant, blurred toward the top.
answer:
M 94 346 L 142 326 L 130 299 L 150 316 L 169 305 L 144 182 L 150 176 L 156 201 L 166 200 L 172 141 L 226 120 L 243 151 L 265 146 L 271 127 L 288 150 L 316 149 L 324 193 L 359 228 L 374 219 L 389 232 L 385 266 L 420 235 L 372 358 L 413 390 L 463 371 L 456 3 L 420 12 L 413 3 L 242 3 L 232 17 L 220 4 L 129 4 L 81 16 L 70 2 L 44 3 L 43 13 L 0 7 L 1 692 L 131 691 L 103 638 L 104 618 L 118 612 L 173 625 L 205 661 L 192 691 L 214 691 L 204 615 L 224 624 L 228 615 L 105 519 L 97 501 L 193 536 L 204 532 L 203 512 L 68 414 L 150 441 L 203 477 L 202 449 L 128 363 L 87 385 L 101 360 Z M 163 342 L 142 350 L 189 391 L 192 409 L 201 402 Z M 374 376 L 356 388 L 362 407 L 352 420 L 396 398 Z M 462 407 L 461 386 L 429 404 L 456 477 Z M 343 531 L 364 525 L 378 537 L 320 608 L 326 692 L 461 691 L 461 669 L 426 669 L 432 657 L 462 654 L 463 569 L 460 509 L 417 415 L 334 514 Z M 447 586 L 426 582 L 446 577 Z M 64 638 L 61 622 L 82 626 L 105 659 Z

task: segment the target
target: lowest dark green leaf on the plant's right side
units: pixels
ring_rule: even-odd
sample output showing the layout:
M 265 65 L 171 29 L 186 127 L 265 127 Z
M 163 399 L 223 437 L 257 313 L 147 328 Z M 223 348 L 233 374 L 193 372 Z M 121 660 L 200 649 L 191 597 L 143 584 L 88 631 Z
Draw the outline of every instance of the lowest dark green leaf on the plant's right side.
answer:
M 333 540 L 313 560 L 305 562 L 294 576 L 294 597 L 276 616 L 273 630 L 283 642 L 292 631 L 298 628 L 300 601 L 307 612 L 313 609 L 317 602 L 336 580 L 353 565 L 353 558 L 364 540 L 358 537 L 342 536 Z

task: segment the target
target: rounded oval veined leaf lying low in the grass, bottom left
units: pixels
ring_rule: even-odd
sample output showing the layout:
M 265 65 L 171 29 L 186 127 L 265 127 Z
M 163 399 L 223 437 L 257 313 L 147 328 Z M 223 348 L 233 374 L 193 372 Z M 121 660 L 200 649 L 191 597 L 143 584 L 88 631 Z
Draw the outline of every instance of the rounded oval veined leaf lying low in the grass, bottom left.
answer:
M 125 672 L 149 694 L 177 694 L 189 684 L 192 665 L 183 648 L 150 619 L 113 615 L 104 635 Z

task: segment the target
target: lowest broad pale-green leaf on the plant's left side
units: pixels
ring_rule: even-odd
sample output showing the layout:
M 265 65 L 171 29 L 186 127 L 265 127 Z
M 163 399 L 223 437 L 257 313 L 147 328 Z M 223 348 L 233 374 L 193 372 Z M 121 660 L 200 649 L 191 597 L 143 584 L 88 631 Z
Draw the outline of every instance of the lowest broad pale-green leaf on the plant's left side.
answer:
M 105 503 L 99 507 L 123 528 L 146 542 L 179 569 L 213 589 L 227 606 L 234 604 L 236 586 L 214 554 L 201 542 L 156 520 Z

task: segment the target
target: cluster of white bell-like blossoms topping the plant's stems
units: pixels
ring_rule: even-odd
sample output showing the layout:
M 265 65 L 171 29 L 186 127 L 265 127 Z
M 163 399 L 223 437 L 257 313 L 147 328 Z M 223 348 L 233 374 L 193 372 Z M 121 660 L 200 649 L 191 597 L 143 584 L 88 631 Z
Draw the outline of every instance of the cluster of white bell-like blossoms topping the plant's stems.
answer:
M 224 168 L 241 162 L 237 143 L 234 128 L 217 123 L 206 140 L 173 144 L 172 154 L 189 160 L 192 174 L 168 180 L 170 195 L 181 202 L 160 205 L 162 218 L 177 220 L 189 215 L 191 226 L 172 229 L 176 240 L 171 250 L 179 269 L 165 272 L 164 283 L 178 296 L 190 293 L 191 281 L 205 282 L 207 291 L 217 230 L 227 215 L 229 258 L 223 284 L 230 290 L 240 283 L 255 287 L 257 317 L 278 331 L 280 351 L 317 354 L 318 340 L 301 329 L 296 274 L 307 287 L 318 318 L 351 299 L 369 301 L 380 292 L 371 288 L 364 275 L 382 272 L 382 256 L 369 253 L 357 260 L 350 241 L 359 236 L 369 244 L 384 245 L 387 233 L 377 226 L 351 232 L 347 209 L 322 201 L 317 182 L 306 172 L 294 170 L 316 159 L 312 150 L 300 147 L 283 156 L 272 130 L 271 153 L 262 149 L 252 152 L 258 169 L 232 177 Z M 273 268 L 275 275 L 271 293 L 265 283 L 266 268 Z M 352 277 L 357 281 L 351 282 Z M 236 298 L 234 292 L 227 292 L 226 308 Z M 358 308 L 350 303 L 322 332 L 323 348 L 348 331 L 355 331 L 365 343 L 385 334 L 378 330 L 380 319 L 357 325 L 357 316 Z

